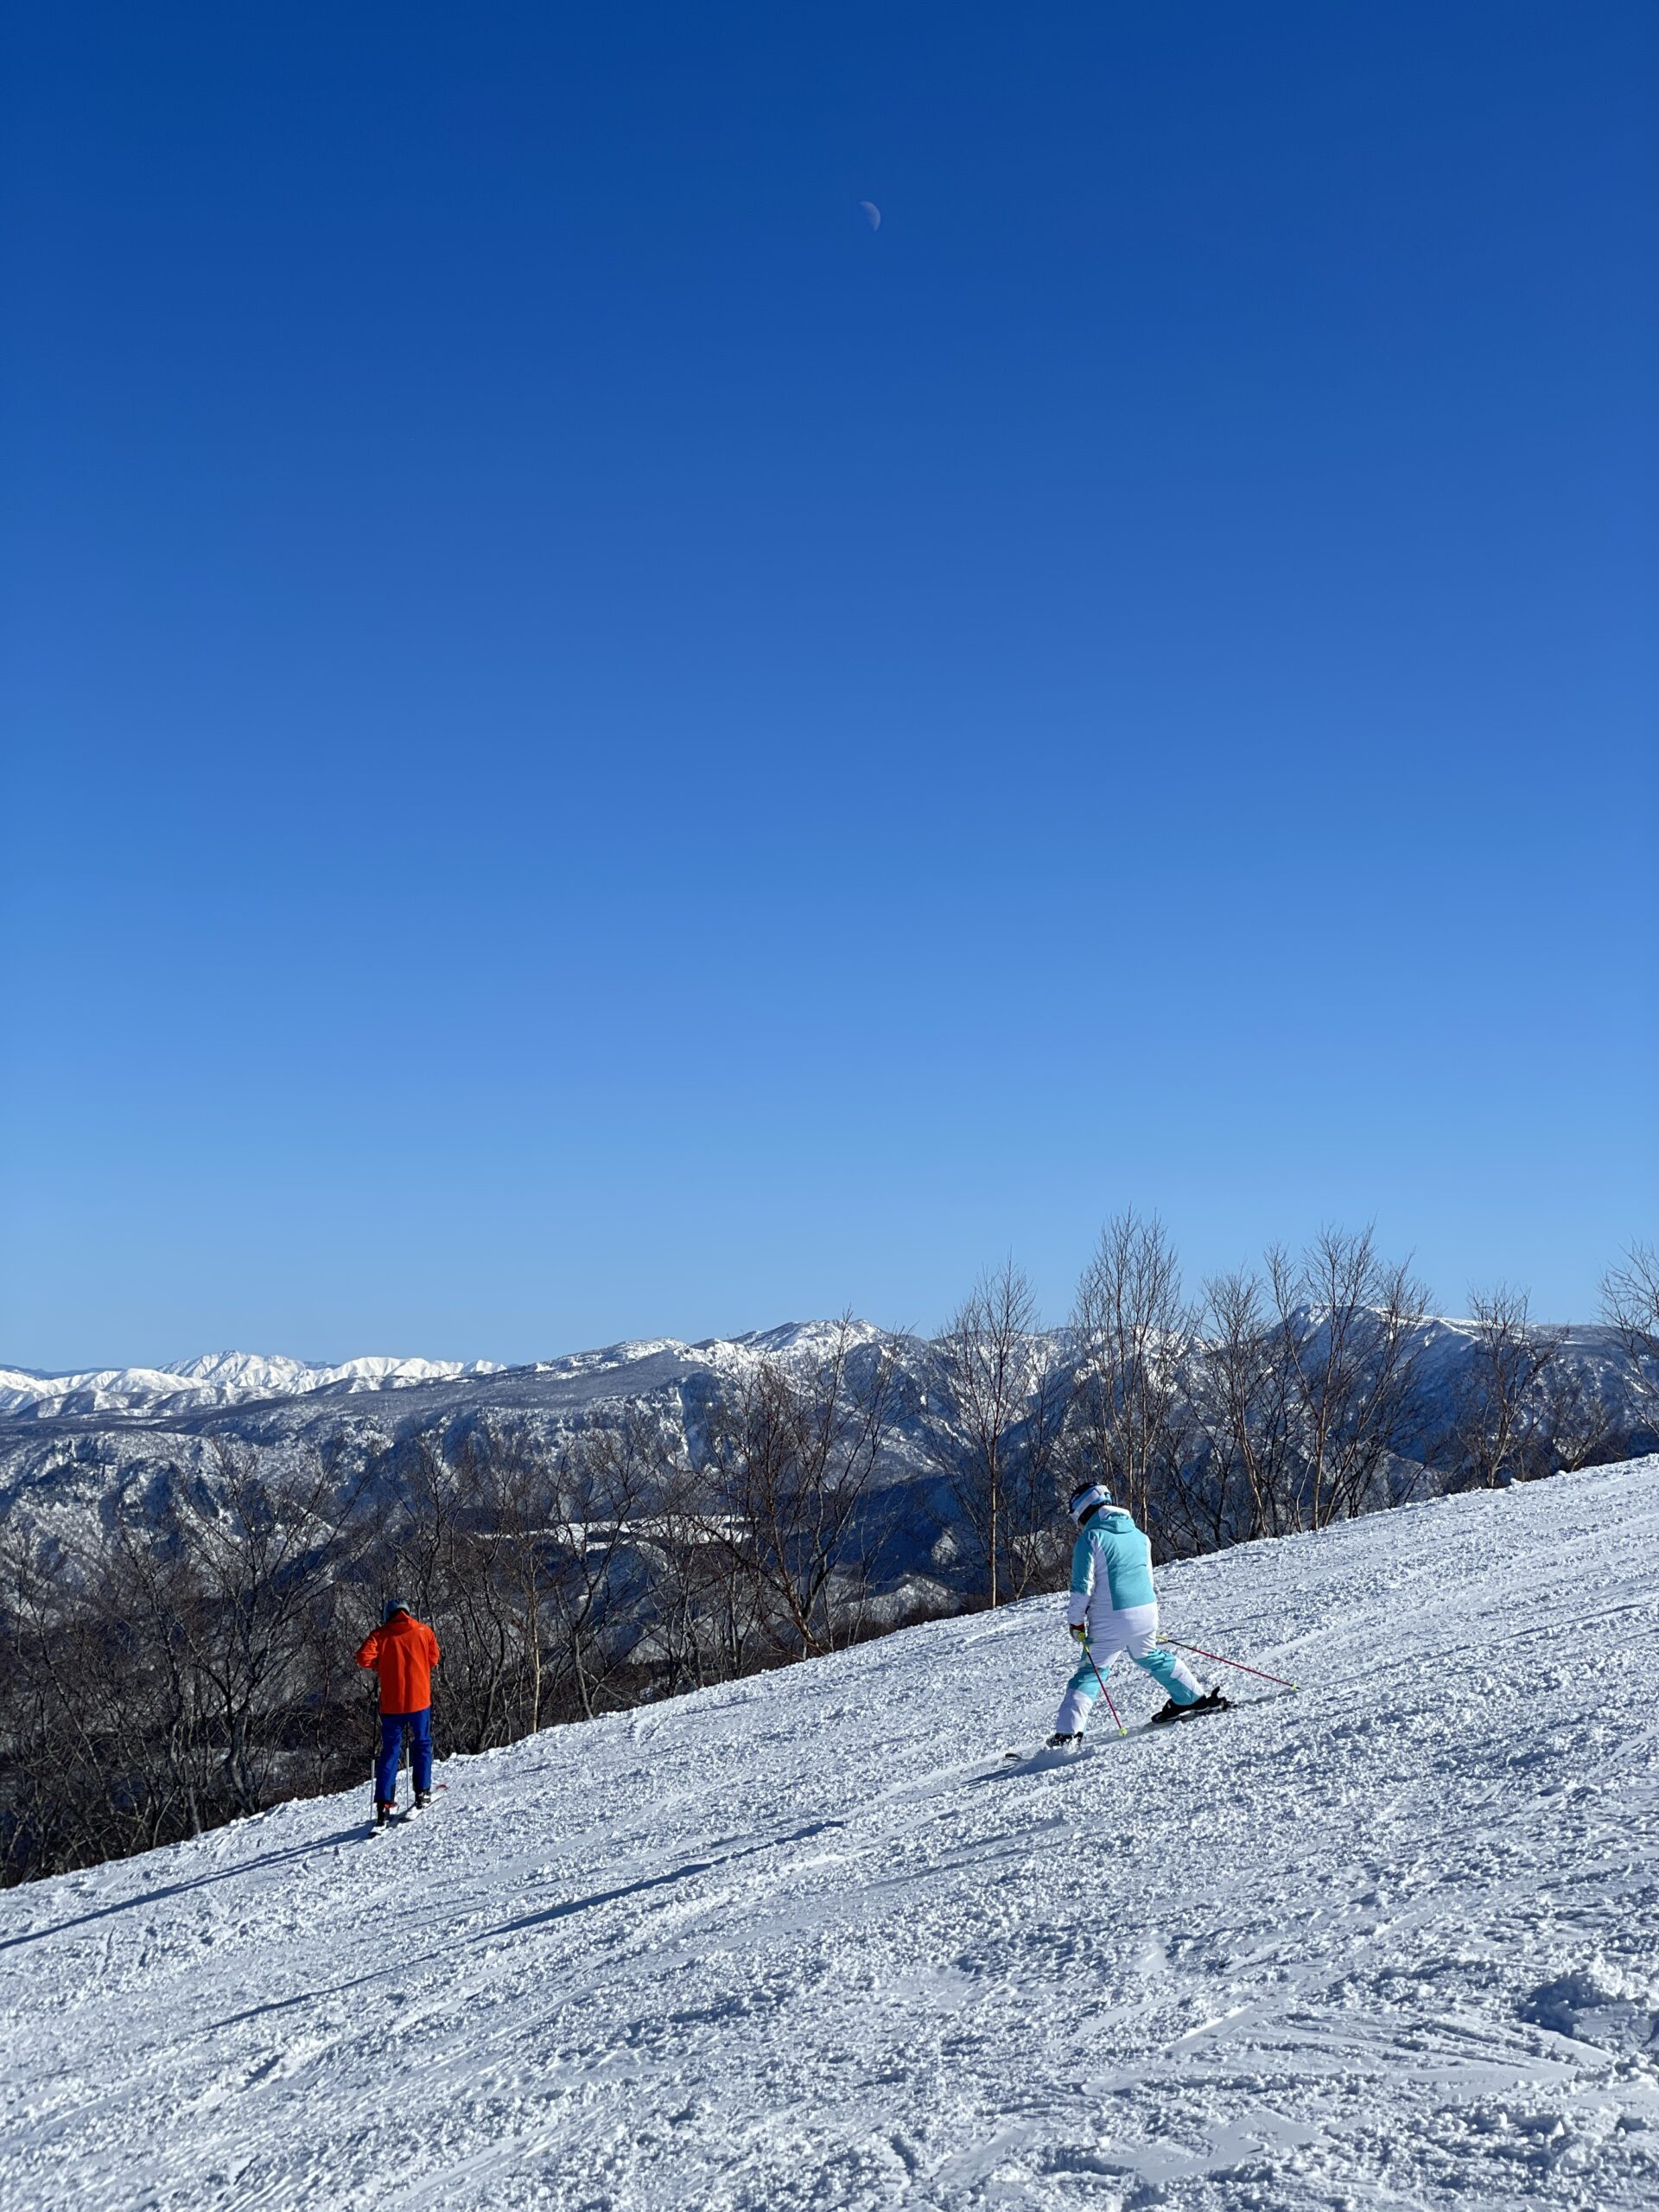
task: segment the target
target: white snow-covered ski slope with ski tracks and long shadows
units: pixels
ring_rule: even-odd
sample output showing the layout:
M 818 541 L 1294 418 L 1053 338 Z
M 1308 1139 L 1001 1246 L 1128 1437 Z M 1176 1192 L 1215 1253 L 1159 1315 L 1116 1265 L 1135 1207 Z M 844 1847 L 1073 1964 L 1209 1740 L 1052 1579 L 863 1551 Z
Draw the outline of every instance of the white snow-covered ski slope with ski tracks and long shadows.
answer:
M 11 1891 L 0 2205 L 1652 2208 L 1657 1575 L 1639 1460 L 1164 1573 L 1301 1694 L 1075 1763 L 1040 1599 Z

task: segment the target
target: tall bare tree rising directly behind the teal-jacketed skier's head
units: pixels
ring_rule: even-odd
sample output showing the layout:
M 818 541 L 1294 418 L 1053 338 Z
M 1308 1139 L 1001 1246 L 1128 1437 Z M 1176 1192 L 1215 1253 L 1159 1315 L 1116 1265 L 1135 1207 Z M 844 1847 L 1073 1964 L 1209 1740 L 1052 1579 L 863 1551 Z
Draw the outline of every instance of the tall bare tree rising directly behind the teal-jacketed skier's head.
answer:
M 1124 1212 L 1106 1223 L 1077 1283 L 1073 1332 L 1075 1471 L 1108 1482 L 1150 1528 L 1161 1480 L 1181 1462 L 1192 1334 L 1175 1245 L 1157 1217 Z

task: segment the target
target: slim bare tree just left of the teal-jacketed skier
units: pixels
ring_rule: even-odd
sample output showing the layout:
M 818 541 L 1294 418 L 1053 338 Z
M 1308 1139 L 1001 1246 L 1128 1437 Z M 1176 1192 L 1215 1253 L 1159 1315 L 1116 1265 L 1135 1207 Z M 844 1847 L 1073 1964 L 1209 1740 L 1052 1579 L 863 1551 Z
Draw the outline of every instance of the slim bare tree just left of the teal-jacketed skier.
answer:
M 973 1533 L 987 1601 L 1022 1597 L 1053 1522 L 1060 1380 L 1031 1283 L 1006 1261 L 982 1274 L 938 1338 L 942 1398 L 929 1451 Z

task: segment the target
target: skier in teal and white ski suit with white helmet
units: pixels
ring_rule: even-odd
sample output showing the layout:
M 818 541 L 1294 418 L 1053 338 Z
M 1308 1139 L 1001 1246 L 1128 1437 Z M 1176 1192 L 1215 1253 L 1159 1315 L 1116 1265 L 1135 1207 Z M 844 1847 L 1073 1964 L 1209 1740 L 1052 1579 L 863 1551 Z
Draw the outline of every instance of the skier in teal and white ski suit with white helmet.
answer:
M 1113 1504 L 1106 1484 L 1086 1482 L 1073 1491 L 1071 1517 L 1077 1522 L 1077 1542 L 1071 1553 L 1066 1628 L 1082 1644 L 1084 1663 L 1066 1683 L 1048 1747 L 1071 1750 L 1084 1741 L 1088 1714 L 1119 1652 L 1128 1652 L 1135 1666 L 1146 1668 L 1170 1692 L 1157 1721 L 1177 1721 L 1197 1705 L 1223 1705 L 1219 1690 L 1203 1690 L 1188 1663 L 1157 1641 L 1152 1546 L 1130 1515 Z

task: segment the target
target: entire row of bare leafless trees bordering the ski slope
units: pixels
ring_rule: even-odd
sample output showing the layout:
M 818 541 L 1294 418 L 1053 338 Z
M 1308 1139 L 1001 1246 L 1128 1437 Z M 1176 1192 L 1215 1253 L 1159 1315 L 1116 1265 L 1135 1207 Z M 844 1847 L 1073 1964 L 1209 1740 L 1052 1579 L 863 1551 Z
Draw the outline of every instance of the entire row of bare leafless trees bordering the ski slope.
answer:
M 1659 1261 L 1604 1285 L 1659 1378 Z M 409 1436 L 369 1458 L 210 1442 L 80 1537 L 0 1540 L 0 1876 L 95 1865 L 365 1783 L 387 1599 L 442 1644 L 445 1752 L 482 1752 L 1064 1582 L 1104 1480 L 1157 1555 L 1615 1455 L 1615 1411 L 1520 1292 L 1473 1301 L 1451 1389 L 1369 1234 L 1217 1276 L 1157 1221 L 1099 1239 L 1068 1327 L 989 1272 L 927 1347 L 843 1321 L 697 1420 Z

